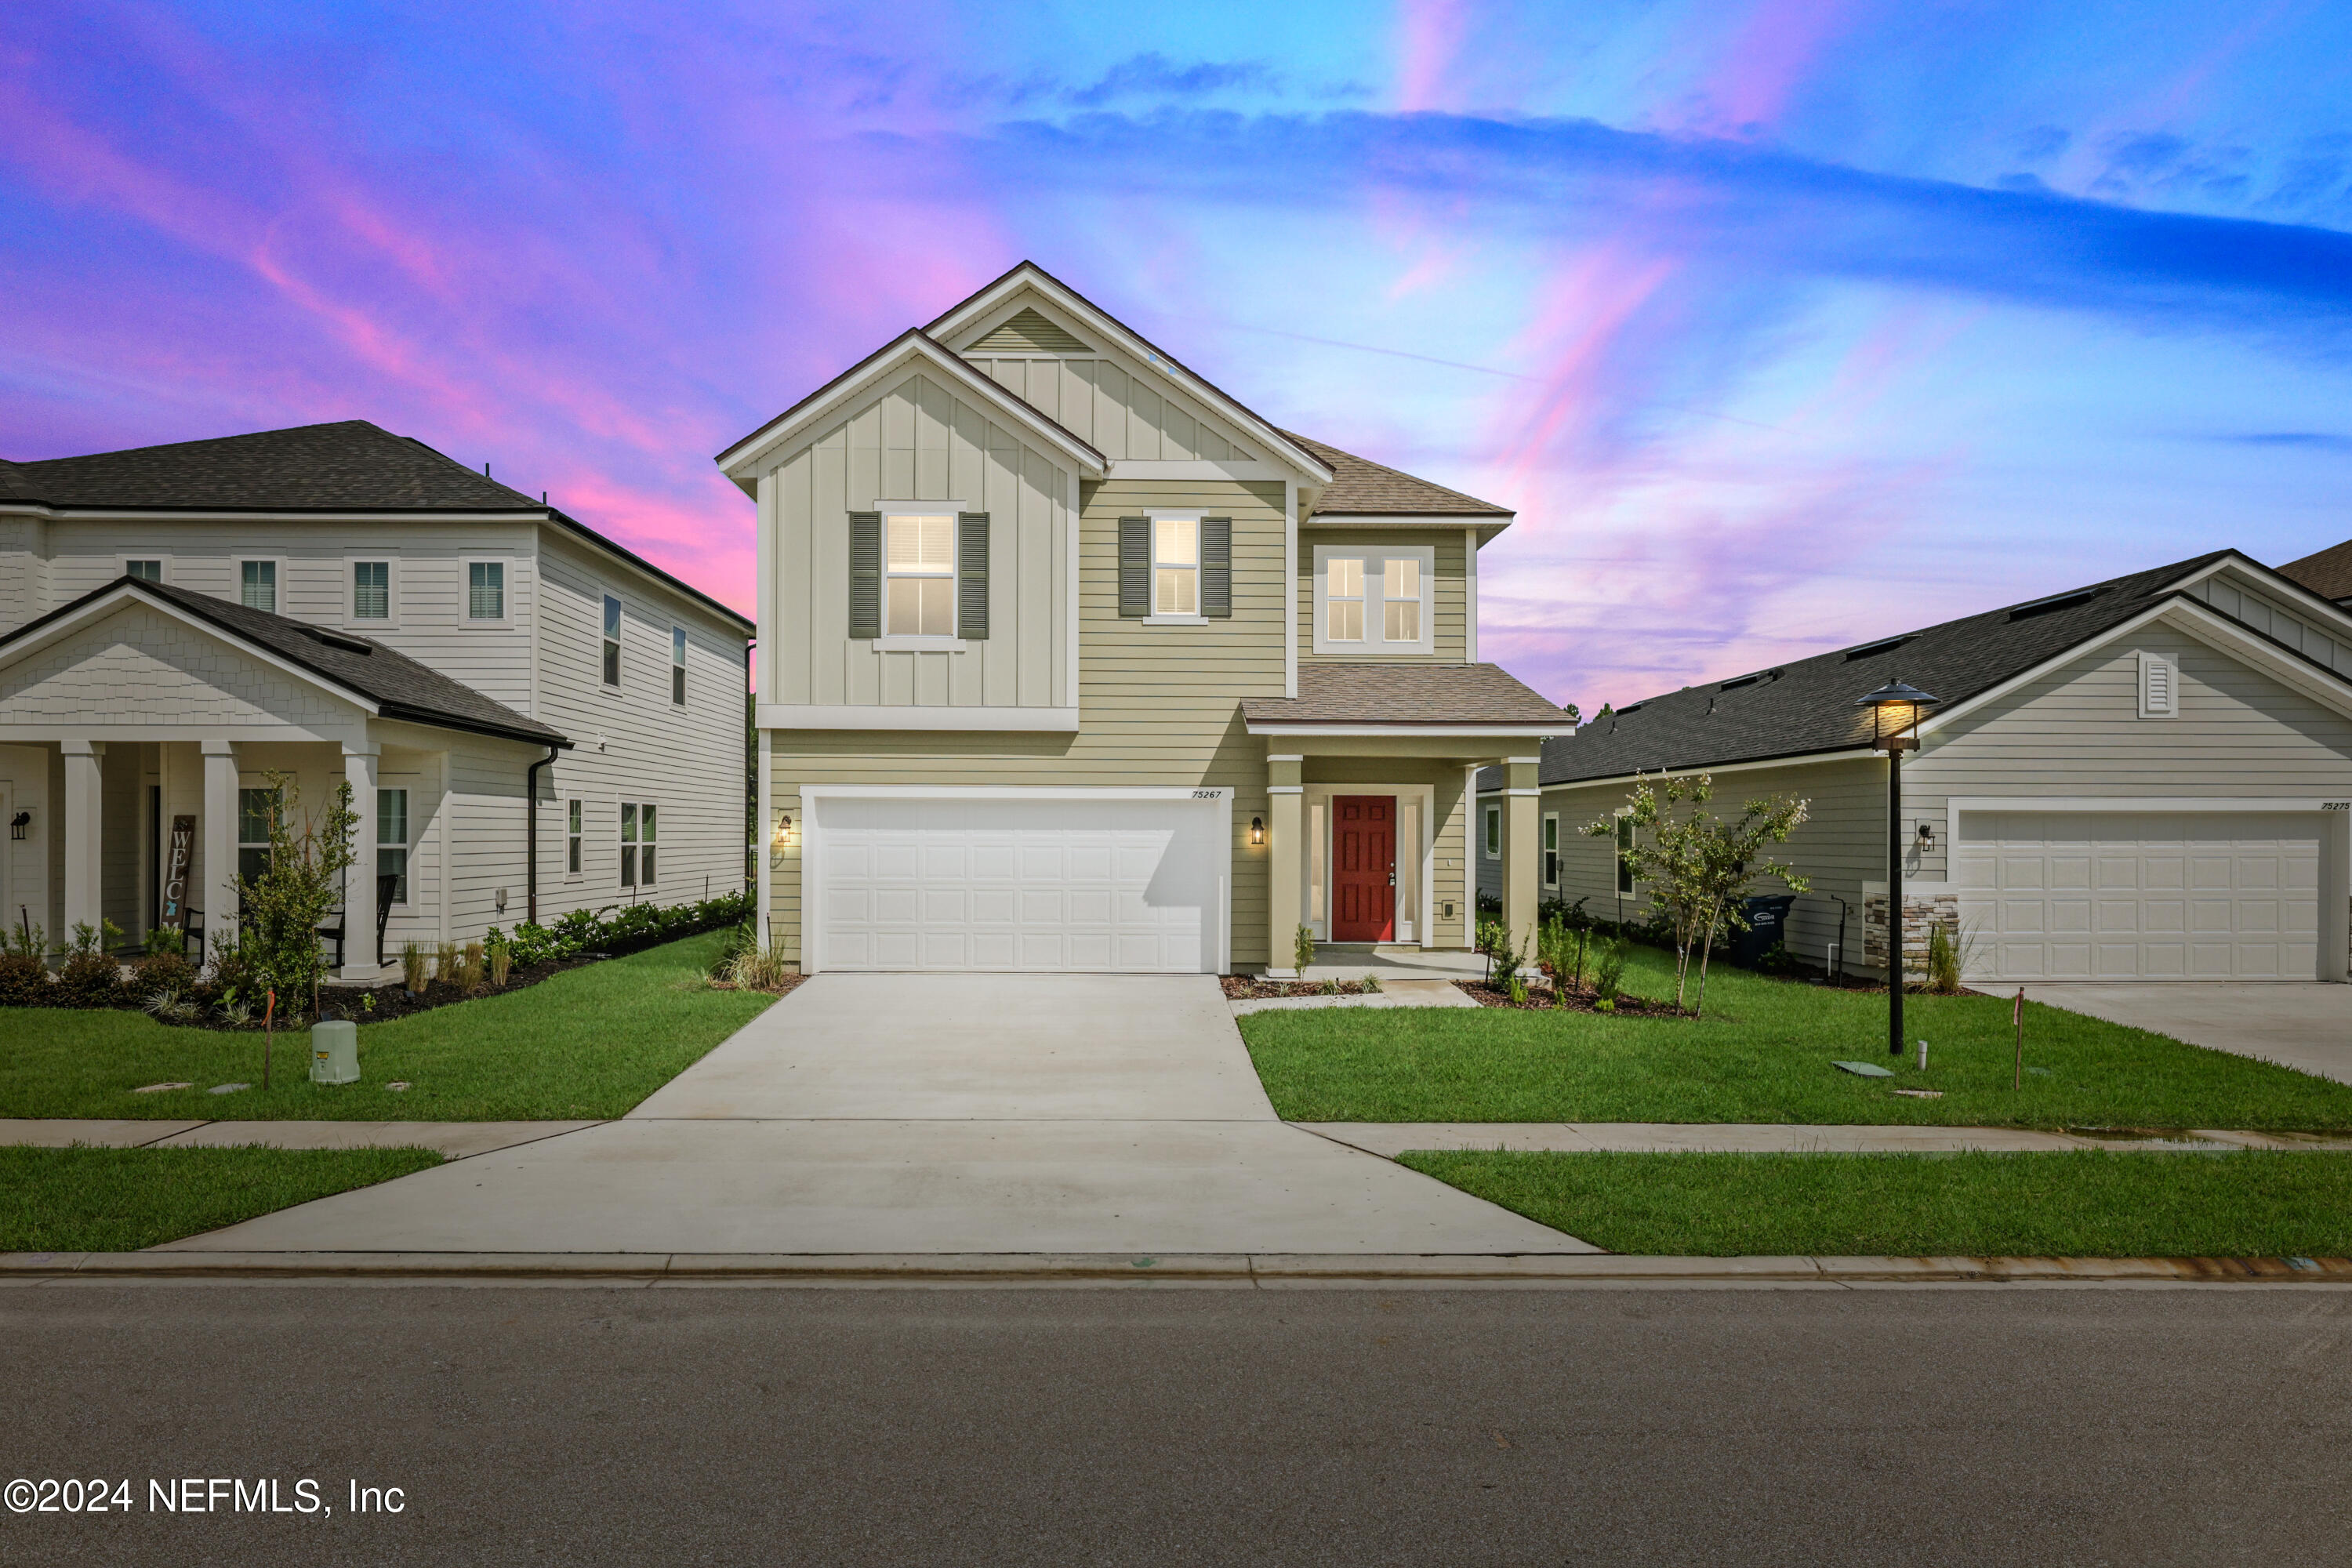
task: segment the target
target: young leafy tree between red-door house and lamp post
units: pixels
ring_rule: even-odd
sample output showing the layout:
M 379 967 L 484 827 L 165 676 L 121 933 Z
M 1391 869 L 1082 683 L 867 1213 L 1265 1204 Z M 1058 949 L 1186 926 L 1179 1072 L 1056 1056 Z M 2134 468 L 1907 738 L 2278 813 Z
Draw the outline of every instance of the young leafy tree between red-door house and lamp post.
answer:
M 1748 914 L 1740 896 L 1762 877 L 1778 877 L 1792 893 L 1804 893 L 1811 882 L 1792 867 L 1766 858 L 1766 844 L 1785 844 L 1788 835 L 1804 823 L 1802 799 L 1752 799 L 1736 820 L 1719 820 L 1708 813 L 1715 780 L 1705 773 L 1684 778 L 1637 778 L 1628 797 L 1632 820 L 1632 846 L 1625 858 L 1632 863 L 1637 882 L 1649 886 L 1649 898 L 1665 912 L 1675 936 L 1675 1009 L 1682 1009 L 1691 976 L 1691 947 L 1698 947 L 1698 1006 L 1693 1018 L 1708 1006 L 1708 954 L 1717 931 L 1745 931 Z M 1588 835 L 1613 839 L 1621 818 L 1602 818 L 1585 827 Z

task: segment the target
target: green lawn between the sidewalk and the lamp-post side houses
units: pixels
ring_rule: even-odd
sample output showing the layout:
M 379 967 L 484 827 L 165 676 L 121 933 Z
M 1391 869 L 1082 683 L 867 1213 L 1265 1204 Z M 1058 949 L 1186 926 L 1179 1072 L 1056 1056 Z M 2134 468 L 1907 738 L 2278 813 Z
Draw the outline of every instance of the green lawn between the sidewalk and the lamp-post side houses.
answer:
M 1625 973 L 1672 997 L 1672 959 Z M 2352 1128 L 2352 1084 L 2305 1077 L 2060 1009 L 2025 1009 L 2025 1088 L 1999 997 L 1907 997 L 1910 1056 L 1886 1063 L 1886 997 L 1717 969 L 1708 1016 L 1609 1018 L 1503 1009 L 1301 1009 L 1242 1018 L 1265 1091 L 1291 1121 L 1917 1121 L 1959 1126 Z M 1940 1088 L 1915 1100 L 1893 1088 Z

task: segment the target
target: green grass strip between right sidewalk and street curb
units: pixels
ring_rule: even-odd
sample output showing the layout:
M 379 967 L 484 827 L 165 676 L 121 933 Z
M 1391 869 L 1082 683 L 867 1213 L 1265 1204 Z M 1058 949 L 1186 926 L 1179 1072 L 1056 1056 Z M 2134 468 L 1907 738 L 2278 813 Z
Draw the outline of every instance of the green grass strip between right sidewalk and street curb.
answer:
M 2345 1154 L 1505 1154 L 1402 1164 L 1611 1253 L 2345 1258 Z

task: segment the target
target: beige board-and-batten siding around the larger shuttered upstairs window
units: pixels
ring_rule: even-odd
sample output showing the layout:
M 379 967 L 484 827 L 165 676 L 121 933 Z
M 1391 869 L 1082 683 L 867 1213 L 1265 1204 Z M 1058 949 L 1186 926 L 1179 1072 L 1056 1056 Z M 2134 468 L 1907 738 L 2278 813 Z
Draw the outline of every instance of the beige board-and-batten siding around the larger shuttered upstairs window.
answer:
M 849 637 L 849 512 L 953 501 L 988 512 L 988 637 L 884 651 Z M 981 404 L 913 374 L 760 477 L 774 635 L 760 701 L 1065 708 L 1070 475 Z

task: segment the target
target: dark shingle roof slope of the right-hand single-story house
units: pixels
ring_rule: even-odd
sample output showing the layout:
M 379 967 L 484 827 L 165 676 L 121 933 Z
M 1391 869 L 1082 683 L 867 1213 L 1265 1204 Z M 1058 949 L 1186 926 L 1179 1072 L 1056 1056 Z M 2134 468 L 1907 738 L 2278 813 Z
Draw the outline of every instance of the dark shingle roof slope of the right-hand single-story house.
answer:
M 1837 752 L 1870 741 L 1856 698 L 1905 679 L 1950 708 L 2023 675 L 2169 597 L 2190 574 L 2230 555 L 2136 571 L 2067 595 L 2004 604 L 1900 637 L 1799 658 L 1729 682 L 1684 686 L 1543 743 L 1543 783 L 1621 778 Z

